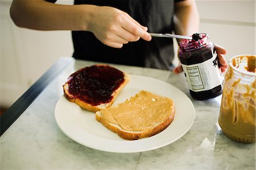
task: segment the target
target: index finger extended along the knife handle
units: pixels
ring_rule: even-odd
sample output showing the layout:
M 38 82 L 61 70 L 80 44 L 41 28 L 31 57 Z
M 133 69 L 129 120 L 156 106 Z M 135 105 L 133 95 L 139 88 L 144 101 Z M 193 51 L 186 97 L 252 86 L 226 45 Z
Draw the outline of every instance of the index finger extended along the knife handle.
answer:
M 146 41 L 151 40 L 151 35 L 148 34 L 148 32 L 144 31 L 141 27 L 139 27 L 137 24 L 135 24 L 128 18 L 125 18 L 123 20 L 123 23 L 121 26 L 135 36 L 139 36 Z

